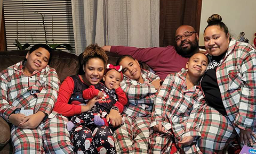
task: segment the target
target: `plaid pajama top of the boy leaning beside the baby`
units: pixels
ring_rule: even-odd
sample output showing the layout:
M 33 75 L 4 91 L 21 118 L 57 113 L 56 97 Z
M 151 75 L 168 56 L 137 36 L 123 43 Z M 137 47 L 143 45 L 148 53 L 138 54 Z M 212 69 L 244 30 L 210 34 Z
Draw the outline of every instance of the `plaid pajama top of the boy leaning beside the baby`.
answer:
M 158 75 L 143 69 L 141 69 L 141 75 L 144 80 L 143 84 L 125 75 L 120 83 L 128 98 L 123 111 L 125 115 L 132 117 L 151 116 L 154 100 L 157 95 L 157 91 L 151 82 L 160 78 Z

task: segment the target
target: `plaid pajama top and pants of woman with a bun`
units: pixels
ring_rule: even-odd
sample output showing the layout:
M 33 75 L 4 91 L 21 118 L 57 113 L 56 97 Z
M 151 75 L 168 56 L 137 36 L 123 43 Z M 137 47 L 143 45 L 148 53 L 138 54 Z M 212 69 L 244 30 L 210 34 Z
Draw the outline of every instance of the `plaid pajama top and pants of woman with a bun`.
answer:
M 221 152 L 228 142 L 240 135 L 240 129 L 256 133 L 255 52 L 251 45 L 233 38 L 223 61 L 217 66 L 216 76 L 227 116 L 213 107 L 205 108 L 199 143 L 203 153 Z M 256 147 L 254 138 L 253 143 Z

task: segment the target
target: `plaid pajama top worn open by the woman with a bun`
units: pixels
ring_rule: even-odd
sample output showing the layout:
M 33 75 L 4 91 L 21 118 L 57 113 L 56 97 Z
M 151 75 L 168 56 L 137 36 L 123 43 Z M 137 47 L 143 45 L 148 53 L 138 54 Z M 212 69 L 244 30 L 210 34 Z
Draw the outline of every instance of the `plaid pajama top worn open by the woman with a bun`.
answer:
M 223 105 L 236 132 L 240 134 L 240 129 L 256 132 L 255 47 L 231 38 L 216 76 Z

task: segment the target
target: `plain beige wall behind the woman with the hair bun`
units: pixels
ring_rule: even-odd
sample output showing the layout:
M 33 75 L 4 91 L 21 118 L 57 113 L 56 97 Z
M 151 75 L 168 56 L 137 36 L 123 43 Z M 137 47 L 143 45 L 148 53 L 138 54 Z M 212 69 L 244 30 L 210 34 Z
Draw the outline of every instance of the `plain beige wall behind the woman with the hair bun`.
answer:
M 199 32 L 199 46 L 204 46 L 203 32 L 207 19 L 212 14 L 219 14 L 227 25 L 231 36 L 239 39 L 239 33 L 245 32 L 245 38 L 253 44 L 256 32 L 256 1 L 255 0 L 203 0 Z

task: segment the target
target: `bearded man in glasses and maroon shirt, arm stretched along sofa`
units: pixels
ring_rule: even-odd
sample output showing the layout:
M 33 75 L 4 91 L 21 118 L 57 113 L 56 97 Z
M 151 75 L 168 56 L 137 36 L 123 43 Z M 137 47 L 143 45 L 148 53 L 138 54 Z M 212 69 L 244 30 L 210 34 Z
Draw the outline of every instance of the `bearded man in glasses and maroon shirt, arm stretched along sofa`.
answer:
M 161 79 L 172 72 L 185 68 L 189 57 L 199 52 L 198 33 L 190 25 L 181 25 L 175 33 L 176 45 L 167 47 L 136 48 L 125 46 L 103 46 L 107 52 L 131 55 L 146 63 Z

